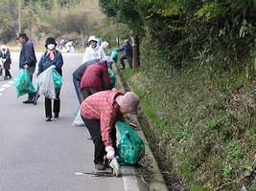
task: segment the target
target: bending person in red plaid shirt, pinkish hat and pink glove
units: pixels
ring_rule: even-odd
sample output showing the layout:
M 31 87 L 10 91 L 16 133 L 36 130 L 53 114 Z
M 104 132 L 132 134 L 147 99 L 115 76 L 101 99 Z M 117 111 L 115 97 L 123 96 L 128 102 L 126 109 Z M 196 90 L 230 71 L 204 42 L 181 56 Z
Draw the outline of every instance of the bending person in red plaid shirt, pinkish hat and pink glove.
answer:
M 88 96 L 81 103 L 81 118 L 94 143 L 94 164 L 97 170 L 105 170 L 108 159 L 116 154 L 117 121 L 125 120 L 125 114 L 136 115 L 140 98 L 132 92 L 102 91 Z

